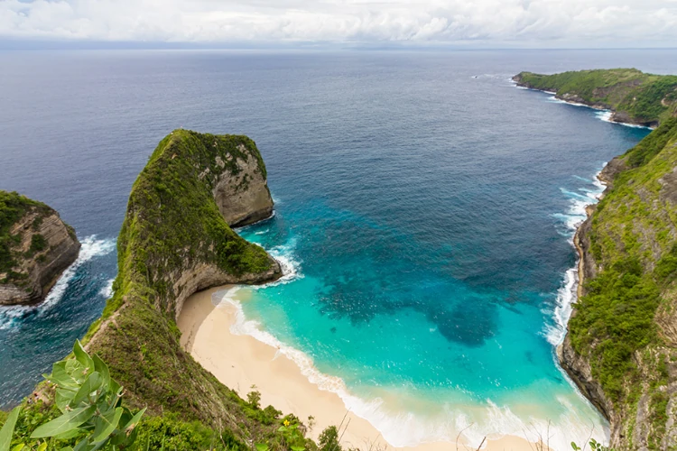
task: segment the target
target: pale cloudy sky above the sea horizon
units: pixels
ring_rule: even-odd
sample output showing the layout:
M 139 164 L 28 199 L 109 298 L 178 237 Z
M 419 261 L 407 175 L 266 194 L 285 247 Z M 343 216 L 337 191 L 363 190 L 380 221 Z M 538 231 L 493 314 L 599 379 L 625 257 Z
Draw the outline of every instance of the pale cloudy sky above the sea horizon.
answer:
M 0 39 L 677 47 L 677 0 L 0 0 Z

